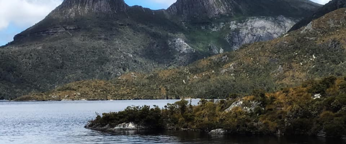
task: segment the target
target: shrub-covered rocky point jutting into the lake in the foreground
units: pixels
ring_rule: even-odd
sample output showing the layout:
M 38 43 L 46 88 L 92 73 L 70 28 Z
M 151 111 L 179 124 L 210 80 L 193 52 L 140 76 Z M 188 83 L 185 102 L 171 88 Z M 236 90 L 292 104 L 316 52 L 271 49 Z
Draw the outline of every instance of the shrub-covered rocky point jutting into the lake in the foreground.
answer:
M 104 113 L 85 128 L 181 129 L 230 134 L 280 134 L 345 137 L 346 77 L 330 76 L 275 93 L 254 90 L 250 96 L 204 100 L 198 105 L 181 100 L 157 106 L 132 106 Z

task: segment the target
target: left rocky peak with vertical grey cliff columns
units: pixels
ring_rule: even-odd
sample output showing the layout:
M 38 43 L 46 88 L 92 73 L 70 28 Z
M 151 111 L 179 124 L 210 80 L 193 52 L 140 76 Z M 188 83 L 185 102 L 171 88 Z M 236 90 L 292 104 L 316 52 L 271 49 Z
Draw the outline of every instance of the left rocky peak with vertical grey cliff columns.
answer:
M 51 12 L 50 16 L 74 18 L 91 13 L 116 15 L 125 13 L 128 7 L 124 0 L 64 0 L 59 7 Z

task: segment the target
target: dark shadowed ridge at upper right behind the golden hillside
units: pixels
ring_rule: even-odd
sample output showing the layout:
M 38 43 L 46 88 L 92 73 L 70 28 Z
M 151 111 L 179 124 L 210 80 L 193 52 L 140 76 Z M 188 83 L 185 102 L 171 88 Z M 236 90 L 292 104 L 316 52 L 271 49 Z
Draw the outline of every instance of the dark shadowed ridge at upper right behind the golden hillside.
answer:
M 322 8 L 318 9 L 315 13 L 313 13 L 313 15 L 306 17 L 306 18 L 302 19 L 301 21 L 299 21 L 298 23 L 296 23 L 290 29 L 290 31 L 298 30 L 301 27 L 308 25 L 312 20 L 318 19 L 318 18 L 324 16 L 325 14 L 327 14 L 331 11 L 337 10 L 339 8 L 346 8 L 346 1 L 345 0 L 332 0 L 332 1 L 328 2 Z

